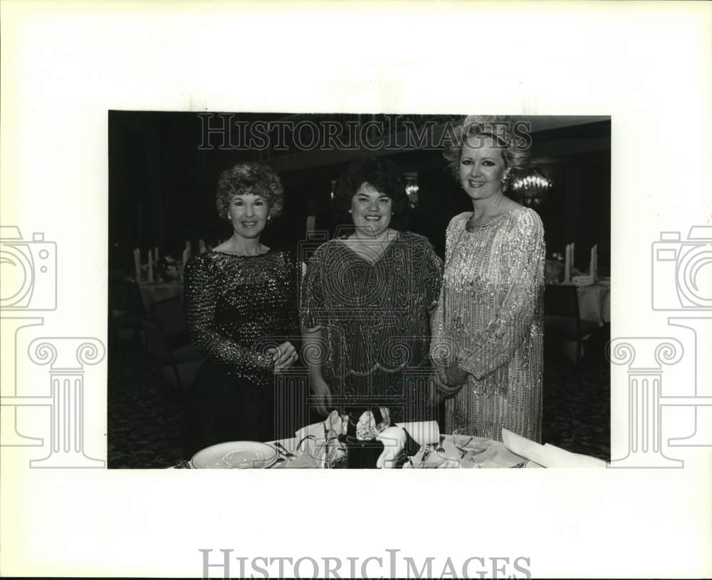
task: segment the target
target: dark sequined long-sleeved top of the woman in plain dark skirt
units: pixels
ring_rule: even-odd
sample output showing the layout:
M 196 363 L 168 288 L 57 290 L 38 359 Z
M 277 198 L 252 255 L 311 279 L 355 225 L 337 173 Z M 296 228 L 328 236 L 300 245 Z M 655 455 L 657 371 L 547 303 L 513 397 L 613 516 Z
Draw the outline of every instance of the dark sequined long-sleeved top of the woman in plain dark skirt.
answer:
M 194 346 L 231 375 L 264 382 L 274 368 L 268 348 L 299 335 L 298 272 L 287 252 L 194 257 L 184 272 Z

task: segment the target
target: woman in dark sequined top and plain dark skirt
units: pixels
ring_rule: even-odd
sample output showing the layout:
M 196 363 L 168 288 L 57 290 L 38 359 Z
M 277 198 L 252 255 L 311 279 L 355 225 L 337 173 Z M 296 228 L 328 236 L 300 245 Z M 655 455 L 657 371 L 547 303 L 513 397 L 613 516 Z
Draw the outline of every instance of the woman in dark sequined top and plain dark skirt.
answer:
M 268 167 L 240 163 L 222 173 L 216 205 L 232 237 L 194 257 L 184 271 L 192 342 L 206 355 L 187 417 L 185 457 L 219 442 L 275 438 L 274 373 L 298 358 L 298 264 L 260 242 L 282 208 Z

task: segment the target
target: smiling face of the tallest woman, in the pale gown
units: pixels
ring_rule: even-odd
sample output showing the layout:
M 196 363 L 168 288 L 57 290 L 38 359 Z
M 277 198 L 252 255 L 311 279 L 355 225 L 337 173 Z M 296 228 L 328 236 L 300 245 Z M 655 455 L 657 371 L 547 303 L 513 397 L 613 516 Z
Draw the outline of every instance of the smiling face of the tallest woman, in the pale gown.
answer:
M 506 170 L 502 148 L 491 137 L 472 135 L 460 155 L 460 184 L 472 200 L 485 200 L 502 190 Z

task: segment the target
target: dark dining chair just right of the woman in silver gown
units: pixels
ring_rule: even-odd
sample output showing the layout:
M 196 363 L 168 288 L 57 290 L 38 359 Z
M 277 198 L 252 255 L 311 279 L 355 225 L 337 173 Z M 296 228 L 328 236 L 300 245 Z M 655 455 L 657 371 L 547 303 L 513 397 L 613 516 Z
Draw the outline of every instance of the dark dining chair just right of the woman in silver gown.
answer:
M 545 333 L 564 341 L 575 341 L 576 363 L 583 356 L 583 343 L 599 325 L 582 320 L 579 312 L 577 287 L 571 284 L 546 284 L 544 289 Z

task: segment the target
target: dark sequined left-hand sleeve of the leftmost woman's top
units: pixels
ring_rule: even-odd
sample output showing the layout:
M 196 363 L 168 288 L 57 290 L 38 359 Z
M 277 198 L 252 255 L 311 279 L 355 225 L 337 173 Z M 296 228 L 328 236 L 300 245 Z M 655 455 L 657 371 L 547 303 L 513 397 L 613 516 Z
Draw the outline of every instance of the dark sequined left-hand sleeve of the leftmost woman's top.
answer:
M 219 272 L 204 257 L 190 261 L 184 272 L 185 311 L 188 330 L 194 346 L 214 362 L 226 368 L 244 371 L 269 371 L 274 368 L 272 356 L 246 348 L 221 333 L 216 324 L 219 299 Z

